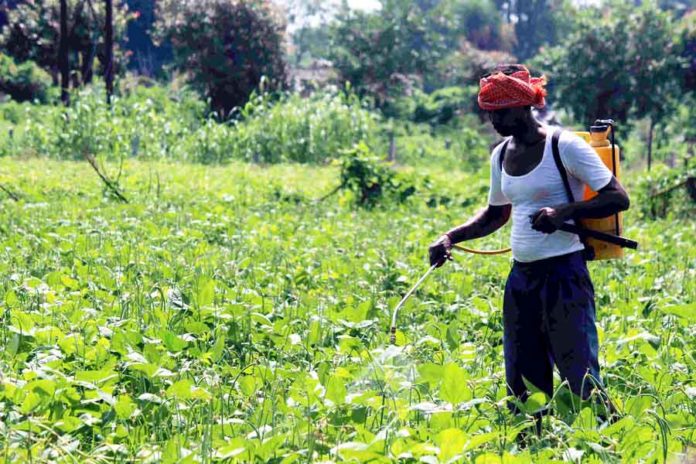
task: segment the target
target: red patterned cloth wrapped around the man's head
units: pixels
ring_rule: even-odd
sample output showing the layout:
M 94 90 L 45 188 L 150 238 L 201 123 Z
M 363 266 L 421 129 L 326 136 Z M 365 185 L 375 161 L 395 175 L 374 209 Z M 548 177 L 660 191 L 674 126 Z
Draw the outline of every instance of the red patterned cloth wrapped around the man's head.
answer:
M 529 70 L 519 66 L 523 69 L 512 74 L 497 72 L 481 79 L 478 102 L 482 110 L 546 105 L 546 77 L 530 77 Z

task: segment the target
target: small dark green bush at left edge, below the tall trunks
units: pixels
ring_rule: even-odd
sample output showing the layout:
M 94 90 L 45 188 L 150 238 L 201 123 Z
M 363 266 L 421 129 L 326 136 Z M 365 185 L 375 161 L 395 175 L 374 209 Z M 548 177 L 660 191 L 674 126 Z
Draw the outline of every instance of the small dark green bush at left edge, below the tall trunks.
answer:
M 33 61 L 16 64 L 15 61 L 0 53 L 0 92 L 13 100 L 40 101 L 49 100 L 51 76 L 39 68 Z

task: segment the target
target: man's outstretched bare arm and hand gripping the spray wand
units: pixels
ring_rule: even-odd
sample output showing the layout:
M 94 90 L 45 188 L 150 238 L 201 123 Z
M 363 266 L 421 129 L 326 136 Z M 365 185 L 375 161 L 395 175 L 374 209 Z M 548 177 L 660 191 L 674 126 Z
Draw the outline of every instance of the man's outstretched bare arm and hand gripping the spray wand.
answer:
M 459 227 L 447 231 L 430 245 L 430 265 L 437 267 L 450 259 L 455 243 L 485 237 L 503 227 L 510 219 L 511 205 L 488 205 Z

